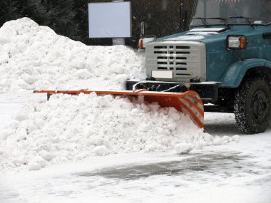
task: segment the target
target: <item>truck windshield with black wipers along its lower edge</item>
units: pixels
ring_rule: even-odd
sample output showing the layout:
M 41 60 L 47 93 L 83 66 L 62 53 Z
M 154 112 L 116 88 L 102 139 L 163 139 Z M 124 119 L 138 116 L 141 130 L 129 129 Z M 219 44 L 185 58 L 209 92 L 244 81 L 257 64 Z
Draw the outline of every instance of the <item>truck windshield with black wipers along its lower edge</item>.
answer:
M 190 26 L 270 23 L 271 0 L 198 0 Z

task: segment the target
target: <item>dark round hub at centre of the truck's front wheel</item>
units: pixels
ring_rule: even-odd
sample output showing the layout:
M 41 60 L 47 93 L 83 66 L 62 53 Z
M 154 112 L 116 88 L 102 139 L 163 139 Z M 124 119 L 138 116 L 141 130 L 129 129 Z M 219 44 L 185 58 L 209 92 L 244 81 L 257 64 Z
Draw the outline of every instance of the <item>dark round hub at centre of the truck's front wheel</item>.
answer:
M 262 121 L 268 114 L 268 98 L 262 90 L 257 90 L 252 98 L 253 115 L 258 121 Z

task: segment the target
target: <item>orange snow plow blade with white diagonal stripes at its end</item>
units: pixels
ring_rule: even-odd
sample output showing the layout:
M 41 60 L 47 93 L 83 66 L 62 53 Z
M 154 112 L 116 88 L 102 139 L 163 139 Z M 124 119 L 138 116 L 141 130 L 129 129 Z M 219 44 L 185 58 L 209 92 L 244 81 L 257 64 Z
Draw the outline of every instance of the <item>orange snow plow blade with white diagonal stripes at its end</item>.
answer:
M 48 94 L 71 94 L 80 93 L 90 94 L 95 92 L 97 95 L 129 95 L 144 96 L 148 103 L 156 102 L 162 107 L 174 107 L 176 110 L 188 114 L 198 127 L 203 128 L 204 110 L 200 95 L 194 91 L 185 93 L 154 92 L 148 90 L 123 90 L 123 91 L 94 91 L 94 90 L 35 90 L 34 93 Z

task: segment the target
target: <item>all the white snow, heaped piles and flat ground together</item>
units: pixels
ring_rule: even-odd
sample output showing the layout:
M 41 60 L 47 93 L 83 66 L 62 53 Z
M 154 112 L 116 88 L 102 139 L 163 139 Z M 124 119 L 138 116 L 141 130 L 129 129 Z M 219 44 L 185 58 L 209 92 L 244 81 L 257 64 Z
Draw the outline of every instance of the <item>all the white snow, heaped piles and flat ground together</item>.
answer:
M 232 114 L 205 132 L 173 108 L 34 89 L 123 89 L 143 76 L 126 46 L 86 46 L 30 19 L 0 28 L 0 202 L 271 201 L 271 128 Z

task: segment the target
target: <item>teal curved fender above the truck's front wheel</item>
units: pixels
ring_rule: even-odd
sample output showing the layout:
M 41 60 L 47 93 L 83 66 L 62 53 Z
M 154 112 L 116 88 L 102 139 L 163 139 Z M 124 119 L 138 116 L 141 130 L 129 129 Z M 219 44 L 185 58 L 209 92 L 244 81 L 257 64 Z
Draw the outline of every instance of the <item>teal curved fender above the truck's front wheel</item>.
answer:
M 227 67 L 227 70 L 223 74 L 220 80 L 219 86 L 221 88 L 237 88 L 242 82 L 245 73 L 250 68 L 267 66 L 271 68 L 271 63 L 267 63 L 267 60 L 260 58 L 251 58 L 244 61 L 236 61 Z

